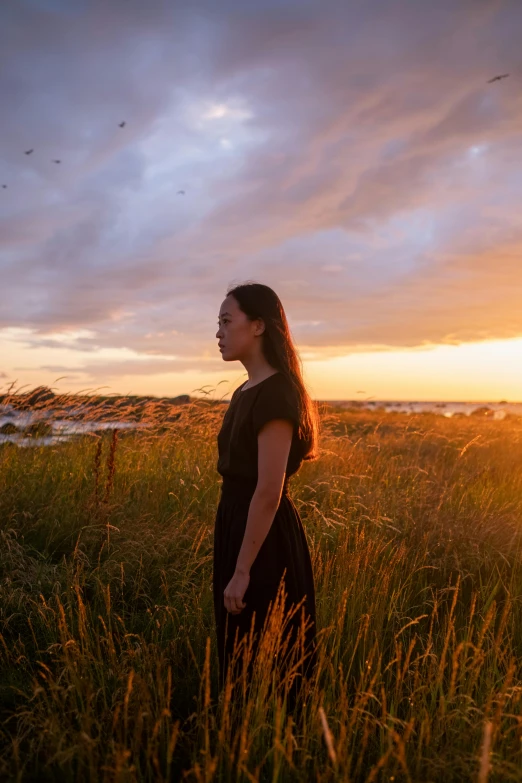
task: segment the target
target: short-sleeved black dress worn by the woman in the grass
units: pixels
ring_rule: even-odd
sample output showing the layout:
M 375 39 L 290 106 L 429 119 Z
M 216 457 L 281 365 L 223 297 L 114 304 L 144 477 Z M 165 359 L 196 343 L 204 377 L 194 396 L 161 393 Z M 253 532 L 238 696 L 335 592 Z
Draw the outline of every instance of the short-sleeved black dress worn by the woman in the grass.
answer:
M 274 521 L 250 569 L 250 582 L 243 597 L 246 607 L 239 614 L 231 614 L 225 608 L 223 593 L 236 568 L 248 509 L 257 484 L 257 434 L 271 419 L 290 419 L 294 423 L 283 494 Z M 309 674 L 316 663 L 312 563 L 303 525 L 288 495 L 287 486 L 288 478 L 302 462 L 298 423 L 296 392 L 291 381 L 278 372 L 249 389 L 243 391 L 241 386 L 235 390 L 218 435 L 217 469 L 223 483 L 214 528 L 213 594 L 221 685 L 225 681 L 236 632 L 238 639 L 249 633 L 255 611 L 254 632 L 259 634 L 283 576 L 287 594 L 285 611 L 300 601 L 303 601 L 304 609 L 304 614 L 302 609 L 294 614 L 287 633 L 297 632 L 303 615 L 306 623 L 310 624 L 305 634 L 307 662 L 304 673 Z M 257 638 L 254 638 L 253 657 Z

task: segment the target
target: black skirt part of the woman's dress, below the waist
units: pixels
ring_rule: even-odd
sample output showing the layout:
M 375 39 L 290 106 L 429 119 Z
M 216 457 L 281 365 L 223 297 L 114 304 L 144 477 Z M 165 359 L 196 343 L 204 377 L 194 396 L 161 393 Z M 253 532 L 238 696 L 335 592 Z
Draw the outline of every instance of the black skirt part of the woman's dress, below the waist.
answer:
M 316 663 L 315 589 L 310 552 L 299 512 L 286 486 L 274 521 L 250 569 L 250 582 L 243 602 L 246 607 L 239 614 L 230 614 L 224 604 L 224 590 L 231 580 L 243 542 L 248 509 L 256 481 L 242 477 L 223 477 L 221 497 L 214 528 L 213 594 L 216 635 L 219 657 L 220 683 L 224 684 L 234 648 L 249 634 L 254 617 L 253 656 L 270 604 L 274 602 L 281 582 L 286 593 L 285 613 L 292 615 L 292 606 L 301 603 L 287 622 L 288 639 L 297 635 L 305 620 L 305 656 L 303 672 L 309 676 Z M 255 613 L 255 616 L 254 616 Z M 293 638 L 295 638 L 295 636 Z M 286 638 L 286 637 L 285 637 Z

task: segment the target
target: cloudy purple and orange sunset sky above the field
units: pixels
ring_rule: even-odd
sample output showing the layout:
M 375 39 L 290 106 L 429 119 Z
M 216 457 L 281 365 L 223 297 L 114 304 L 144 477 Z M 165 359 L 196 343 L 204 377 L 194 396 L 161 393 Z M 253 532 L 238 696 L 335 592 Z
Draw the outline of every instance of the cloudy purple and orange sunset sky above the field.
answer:
M 519 0 L 3 0 L 0 391 L 229 397 L 255 280 L 316 399 L 522 401 L 521 35 Z

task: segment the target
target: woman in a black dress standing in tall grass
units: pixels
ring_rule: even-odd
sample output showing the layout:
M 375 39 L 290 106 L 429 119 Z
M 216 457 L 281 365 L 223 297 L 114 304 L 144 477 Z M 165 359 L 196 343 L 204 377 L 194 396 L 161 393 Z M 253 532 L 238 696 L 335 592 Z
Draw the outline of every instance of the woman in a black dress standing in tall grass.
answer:
M 287 485 L 302 460 L 317 457 L 317 413 L 303 384 L 283 306 L 271 288 L 247 283 L 229 289 L 218 327 L 224 361 L 240 361 L 248 372 L 248 380 L 232 395 L 218 435 L 217 469 L 223 482 L 214 530 L 213 591 L 221 685 L 234 642 L 251 627 L 252 672 L 259 634 L 276 596 L 286 600 L 285 638 L 290 644 L 301 629 L 302 680 L 316 662 L 315 589 L 306 536 Z M 278 589 L 284 592 L 278 594 Z M 290 710 L 298 687 L 296 675 L 287 701 Z

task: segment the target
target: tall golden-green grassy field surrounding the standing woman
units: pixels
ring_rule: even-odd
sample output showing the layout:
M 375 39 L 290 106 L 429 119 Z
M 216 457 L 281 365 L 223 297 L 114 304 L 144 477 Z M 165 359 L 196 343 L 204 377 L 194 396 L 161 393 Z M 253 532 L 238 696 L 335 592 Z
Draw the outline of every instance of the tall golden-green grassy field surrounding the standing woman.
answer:
M 217 689 L 223 408 L 0 447 L 0 778 L 522 781 L 522 420 L 322 413 L 318 676 Z M 160 422 L 157 422 L 159 425 Z

